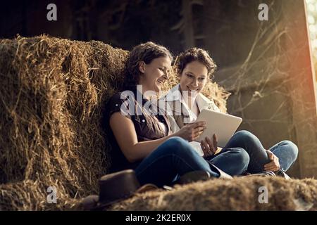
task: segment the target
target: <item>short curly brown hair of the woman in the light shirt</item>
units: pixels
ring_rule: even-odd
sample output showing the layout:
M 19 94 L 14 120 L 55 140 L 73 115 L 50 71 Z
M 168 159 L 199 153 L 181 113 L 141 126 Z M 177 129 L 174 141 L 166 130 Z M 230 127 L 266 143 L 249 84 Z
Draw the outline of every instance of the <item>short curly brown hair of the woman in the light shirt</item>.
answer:
M 191 48 L 180 53 L 176 58 L 175 64 L 178 75 L 182 75 L 182 71 L 185 69 L 186 65 L 192 63 L 192 61 L 199 61 L 199 63 L 204 64 L 210 78 L 213 75 L 213 72 L 216 71 L 217 65 L 209 56 L 208 51 L 199 48 Z

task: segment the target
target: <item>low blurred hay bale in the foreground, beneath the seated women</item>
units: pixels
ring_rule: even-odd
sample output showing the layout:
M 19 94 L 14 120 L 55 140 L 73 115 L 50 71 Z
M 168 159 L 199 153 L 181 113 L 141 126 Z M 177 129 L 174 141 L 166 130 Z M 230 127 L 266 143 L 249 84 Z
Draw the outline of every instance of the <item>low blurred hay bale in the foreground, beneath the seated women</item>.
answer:
M 268 189 L 268 203 L 259 203 L 261 186 Z M 317 210 L 317 180 L 279 177 L 212 179 L 173 191 L 137 194 L 108 210 Z

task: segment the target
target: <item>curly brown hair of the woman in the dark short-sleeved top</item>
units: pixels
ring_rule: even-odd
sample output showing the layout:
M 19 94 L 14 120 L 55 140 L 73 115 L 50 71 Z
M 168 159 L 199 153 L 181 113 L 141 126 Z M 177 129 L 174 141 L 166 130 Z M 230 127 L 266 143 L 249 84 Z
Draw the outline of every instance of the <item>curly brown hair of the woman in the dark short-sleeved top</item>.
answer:
M 152 60 L 159 57 L 169 57 L 171 61 L 173 60 L 173 56 L 166 47 L 155 44 L 152 41 L 135 46 L 125 61 L 123 89 L 134 89 L 139 83 L 139 77 L 141 76 L 139 62 L 144 61 L 144 63 L 149 64 Z

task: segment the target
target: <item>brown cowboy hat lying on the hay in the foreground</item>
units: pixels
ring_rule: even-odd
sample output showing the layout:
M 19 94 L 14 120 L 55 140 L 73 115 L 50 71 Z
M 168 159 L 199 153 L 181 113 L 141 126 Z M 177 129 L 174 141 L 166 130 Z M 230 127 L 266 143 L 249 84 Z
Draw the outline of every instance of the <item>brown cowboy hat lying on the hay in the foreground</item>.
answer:
M 106 174 L 99 179 L 99 195 L 89 195 L 82 200 L 85 210 L 102 210 L 113 203 L 130 198 L 136 193 L 156 190 L 154 184 L 140 186 L 135 171 L 126 169 L 113 174 Z

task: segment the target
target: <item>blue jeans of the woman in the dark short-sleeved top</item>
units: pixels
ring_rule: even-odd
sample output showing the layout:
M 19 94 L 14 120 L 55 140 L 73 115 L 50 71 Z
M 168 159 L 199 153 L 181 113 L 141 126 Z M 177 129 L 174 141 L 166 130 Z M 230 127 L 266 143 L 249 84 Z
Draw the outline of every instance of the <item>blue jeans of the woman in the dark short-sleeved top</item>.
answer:
M 241 174 L 249 164 L 249 155 L 242 148 L 225 151 L 216 158 L 214 165 L 220 169 L 226 166 L 235 174 Z M 223 165 L 224 163 L 225 165 Z M 173 137 L 144 158 L 135 169 L 135 174 L 141 185 L 151 183 L 161 187 L 171 184 L 179 176 L 194 170 L 204 170 L 211 176 L 219 176 L 211 169 L 209 162 L 202 158 L 188 141 L 180 137 Z M 228 169 L 225 172 L 228 172 Z

